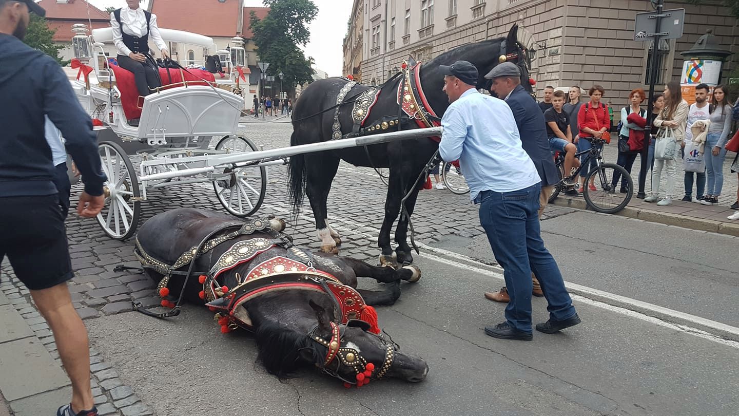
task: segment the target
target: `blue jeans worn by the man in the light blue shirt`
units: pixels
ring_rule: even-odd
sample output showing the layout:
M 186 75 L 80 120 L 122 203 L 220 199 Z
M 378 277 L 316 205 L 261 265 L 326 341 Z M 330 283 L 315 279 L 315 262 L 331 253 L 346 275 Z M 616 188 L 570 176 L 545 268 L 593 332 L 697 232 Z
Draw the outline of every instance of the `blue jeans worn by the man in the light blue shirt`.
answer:
M 562 274 L 542 241 L 536 184 L 513 192 L 480 192 L 480 225 L 488 235 L 495 260 L 503 267 L 511 301 L 505 306 L 508 325 L 531 333 L 531 272 L 547 299 L 549 317 L 565 321 L 575 315 Z

